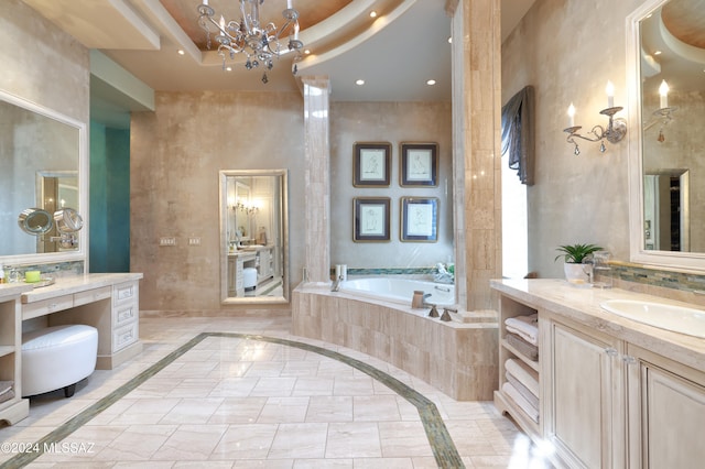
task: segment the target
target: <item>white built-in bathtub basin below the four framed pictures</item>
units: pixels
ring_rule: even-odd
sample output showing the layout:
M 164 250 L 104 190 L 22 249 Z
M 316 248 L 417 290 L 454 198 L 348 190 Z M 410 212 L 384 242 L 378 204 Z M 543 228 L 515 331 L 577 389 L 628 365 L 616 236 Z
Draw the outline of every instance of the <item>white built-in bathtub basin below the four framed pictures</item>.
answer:
M 455 285 L 412 279 L 384 276 L 347 280 L 340 291 L 361 297 L 410 305 L 414 292 L 424 292 L 425 302 L 437 306 L 455 304 Z

